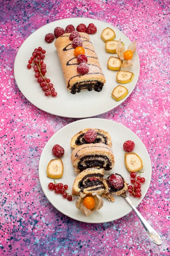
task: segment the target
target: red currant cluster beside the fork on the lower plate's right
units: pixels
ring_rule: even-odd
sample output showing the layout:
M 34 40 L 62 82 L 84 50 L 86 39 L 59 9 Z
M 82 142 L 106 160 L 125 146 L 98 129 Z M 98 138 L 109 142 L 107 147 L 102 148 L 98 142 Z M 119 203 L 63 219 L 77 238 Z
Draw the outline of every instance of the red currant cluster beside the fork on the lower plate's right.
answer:
M 141 172 L 140 172 L 141 173 Z M 131 183 L 132 185 L 128 186 L 128 192 L 132 194 L 135 198 L 141 197 L 141 183 L 145 182 L 144 177 L 137 176 L 135 172 L 131 173 Z

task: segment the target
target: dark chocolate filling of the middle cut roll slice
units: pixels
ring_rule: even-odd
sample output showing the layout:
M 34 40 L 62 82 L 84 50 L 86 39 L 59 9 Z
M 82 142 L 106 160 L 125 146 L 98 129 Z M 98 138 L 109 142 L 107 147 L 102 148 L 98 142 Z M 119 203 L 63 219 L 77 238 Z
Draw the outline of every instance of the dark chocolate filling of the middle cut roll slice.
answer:
M 99 157 L 103 160 L 99 159 Z M 83 166 L 82 162 L 85 163 L 85 166 Z M 78 162 L 78 169 L 80 171 L 93 167 L 104 168 L 105 171 L 109 171 L 111 170 L 111 162 L 109 161 L 109 158 L 105 155 L 86 155 L 82 157 Z

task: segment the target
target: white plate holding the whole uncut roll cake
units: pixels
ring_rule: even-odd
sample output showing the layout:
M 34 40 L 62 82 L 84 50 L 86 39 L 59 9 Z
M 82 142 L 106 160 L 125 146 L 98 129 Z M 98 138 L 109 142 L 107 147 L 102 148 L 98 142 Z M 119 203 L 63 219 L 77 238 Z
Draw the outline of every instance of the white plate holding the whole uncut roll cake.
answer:
M 55 27 L 63 27 L 65 29 L 68 24 L 73 24 L 74 27 L 76 27 L 80 23 L 88 25 L 91 22 L 96 25 L 98 31 L 96 34 L 91 35 L 90 38 L 98 55 L 107 82 L 101 92 L 95 92 L 94 90 L 89 92 L 88 90 L 85 90 L 73 95 L 66 88 L 63 71 L 54 43 L 46 43 L 44 37 L 49 32 L 53 33 Z M 120 30 L 105 22 L 89 18 L 57 20 L 37 29 L 31 34 L 20 47 L 14 64 L 16 83 L 26 99 L 33 103 L 37 108 L 53 115 L 85 118 L 100 115 L 116 108 L 129 97 L 135 88 L 139 77 L 139 57 L 137 52 L 135 52 L 133 56 L 133 66 L 129 68 L 129 71 L 135 74 L 133 81 L 125 85 L 129 90 L 129 94 L 123 100 L 116 102 L 111 98 L 111 92 L 118 85 L 116 82 L 117 72 L 107 69 L 107 61 L 110 56 L 117 56 L 117 54 L 107 53 L 105 51 L 105 43 L 100 38 L 102 30 L 106 27 L 111 27 L 115 31 L 115 39 L 119 40 L 119 38 L 121 38 L 127 49 L 131 41 Z M 54 88 L 58 93 L 56 98 L 46 97 L 44 95 L 44 92 L 41 90 L 39 83 L 37 83 L 34 77 L 35 73 L 33 68 L 28 70 L 26 67 L 33 50 L 39 46 L 46 50 L 46 57 L 44 60 L 47 65 L 46 76 L 50 78 L 51 82 L 54 84 Z

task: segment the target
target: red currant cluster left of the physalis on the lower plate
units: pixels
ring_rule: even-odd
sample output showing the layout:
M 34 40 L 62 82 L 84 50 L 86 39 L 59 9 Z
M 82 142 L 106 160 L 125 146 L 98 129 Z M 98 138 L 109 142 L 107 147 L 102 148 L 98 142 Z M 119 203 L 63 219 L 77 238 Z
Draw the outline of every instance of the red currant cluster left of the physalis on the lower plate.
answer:
M 68 189 L 68 185 L 67 184 L 63 185 L 63 183 L 57 183 L 54 180 L 54 183 L 50 182 L 48 184 L 48 189 L 54 190 L 54 192 L 56 194 L 61 194 L 63 196 L 63 198 L 67 198 L 68 201 L 72 201 L 73 200 L 73 196 L 66 191 Z

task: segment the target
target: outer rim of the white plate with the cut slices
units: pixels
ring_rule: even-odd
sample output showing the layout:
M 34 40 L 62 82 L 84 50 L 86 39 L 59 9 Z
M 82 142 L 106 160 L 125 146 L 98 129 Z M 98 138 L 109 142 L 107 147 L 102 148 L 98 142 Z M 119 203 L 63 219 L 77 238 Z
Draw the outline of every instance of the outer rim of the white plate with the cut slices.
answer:
M 50 139 L 46 142 L 46 144 L 45 144 L 45 146 L 44 146 L 44 148 L 43 148 L 43 150 L 42 150 L 42 152 L 41 152 L 41 156 L 40 156 L 40 158 L 39 158 L 39 166 L 38 166 L 38 173 L 39 173 L 39 182 L 40 182 L 40 185 L 41 185 L 41 178 L 40 178 L 40 163 L 41 163 L 41 158 L 43 157 L 43 152 L 45 151 L 45 147 L 46 147 L 46 145 L 47 145 L 47 143 L 49 142 L 49 141 L 51 141 L 52 139 L 53 139 L 53 137 L 60 131 L 60 130 L 62 130 L 62 129 L 64 129 L 66 126 L 67 127 L 69 127 L 69 126 L 71 126 L 73 123 L 79 123 L 79 122 L 83 122 L 83 120 L 94 120 L 94 118 L 87 118 L 87 119 L 80 119 L 80 120 L 77 120 L 77 121 L 73 121 L 72 123 L 70 123 L 70 124 L 67 124 L 67 125 L 65 125 L 65 126 L 63 126 L 62 128 L 60 128 L 57 132 L 55 132 L 51 137 L 50 137 Z M 112 121 L 112 120 L 109 120 L 109 119 L 103 119 L 103 118 L 95 118 L 95 120 L 104 120 L 104 121 L 108 121 L 109 123 L 116 123 L 116 124 L 118 124 L 118 125 L 120 125 L 120 126 L 123 126 L 123 127 L 125 127 L 126 129 L 128 129 L 130 132 L 132 132 L 132 134 L 135 136 L 135 137 L 137 137 L 141 142 L 142 142 L 142 140 L 135 134 L 135 132 L 133 132 L 132 130 L 130 130 L 128 127 L 126 127 L 126 126 L 124 126 L 123 124 L 120 124 L 120 123 L 118 123 L 118 122 L 116 122 L 116 121 Z M 148 159 L 150 160 L 150 155 L 149 155 L 149 153 L 148 153 L 148 150 L 146 149 L 146 146 L 144 145 L 144 143 L 142 142 L 142 144 L 143 144 L 143 146 L 144 146 L 144 150 L 145 150 L 145 152 L 146 152 L 146 155 L 148 156 Z M 133 203 L 134 204 L 134 206 L 135 207 L 138 207 L 138 205 L 142 202 L 142 200 L 144 199 L 144 197 L 146 196 L 146 194 L 147 194 L 147 192 L 148 192 L 148 189 L 149 189 L 149 186 L 150 186 L 150 182 L 151 182 L 151 177 L 152 177 L 152 163 L 151 163 L 151 160 L 149 161 L 149 168 L 150 168 L 150 177 L 149 177 L 149 182 L 148 182 L 148 184 L 147 184 L 147 186 L 146 186 L 146 193 L 142 196 L 142 198 L 141 198 L 141 200 L 139 201 L 139 202 L 137 202 L 137 203 Z M 44 192 L 44 189 L 43 189 L 43 187 L 41 186 L 41 189 L 42 189 L 42 191 Z M 44 192 L 44 195 L 46 196 L 46 198 L 47 198 L 47 200 L 50 202 L 50 204 L 52 204 L 52 202 L 50 201 L 50 196 L 48 197 L 48 195 L 46 195 L 46 193 Z M 54 206 L 54 204 L 52 204 L 52 206 L 55 208 L 55 209 L 57 209 L 55 206 Z M 79 221 L 79 222 L 84 222 L 84 223 L 92 223 L 92 224 L 97 224 L 97 223 L 107 223 L 107 222 L 111 222 L 111 221 L 114 221 L 114 220 L 118 220 L 118 219 L 120 219 L 120 218 L 122 218 L 122 217 L 124 217 L 124 216 L 126 216 L 126 215 L 128 215 L 131 211 L 132 211 L 133 209 L 131 208 L 130 210 L 128 210 L 127 211 L 127 213 L 122 213 L 118 218 L 114 218 L 113 220 L 108 220 L 108 221 L 85 221 L 85 220 L 79 220 L 78 218 L 74 218 L 74 217 L 72 217 L 72 216 L 70 216 L 70 214 L 68 213 L 68 214 L 65 214 L 65 213 L 63 213 L 62 211 L 60 211 L 60 210 L 58 210 L 57 209 L 57 211 L 59 211 L 59 212 L 61 212 L 63 215 L 65 215 L 65 216 L 68 216 L 69 218 L 71 218 L 71 219 L 73 219 L 73 220 L 77 220 L 77 221 Z

